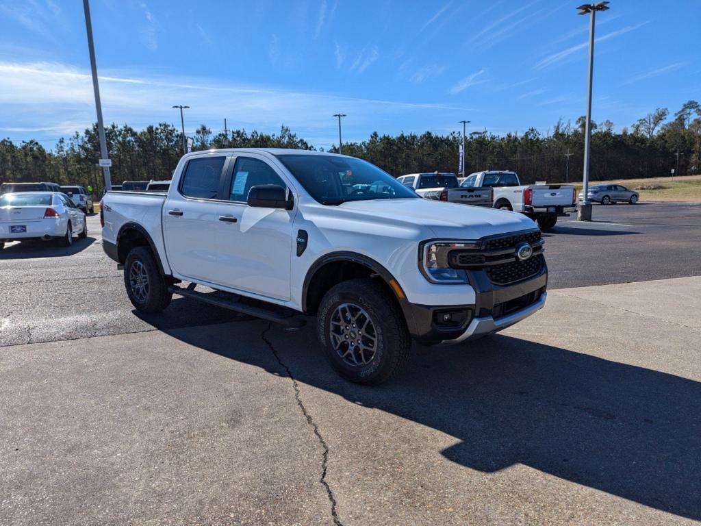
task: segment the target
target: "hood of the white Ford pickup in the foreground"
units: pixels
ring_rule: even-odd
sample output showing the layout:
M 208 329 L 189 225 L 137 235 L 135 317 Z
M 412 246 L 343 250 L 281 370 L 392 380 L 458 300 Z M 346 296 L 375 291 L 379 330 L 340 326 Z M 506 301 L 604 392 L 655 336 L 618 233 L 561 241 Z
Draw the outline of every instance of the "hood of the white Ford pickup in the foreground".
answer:
M 376 199 L 338 206 L 359 220 L 402 223 L 429 229 L 436 238 L 477 239 L 494 234 L 537 228 L 525 215 L 494 208 L 444 203 L 428 199 Z

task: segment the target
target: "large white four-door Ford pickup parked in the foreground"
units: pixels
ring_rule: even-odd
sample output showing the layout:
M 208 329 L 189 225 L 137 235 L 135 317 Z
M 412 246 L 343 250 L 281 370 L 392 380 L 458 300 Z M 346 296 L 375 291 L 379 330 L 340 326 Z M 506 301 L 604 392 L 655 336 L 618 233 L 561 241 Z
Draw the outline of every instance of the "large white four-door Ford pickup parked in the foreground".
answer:
M 315 316 L 332 366 L 363 384 L 390 377 L 412 338 L 475 339 L 545 303 L 531 220 L 418 198 L 349 156 L 198 151 L 167 194 L 107 192 L 100 221 L 137 310 L 177 294 L 290 327 Z

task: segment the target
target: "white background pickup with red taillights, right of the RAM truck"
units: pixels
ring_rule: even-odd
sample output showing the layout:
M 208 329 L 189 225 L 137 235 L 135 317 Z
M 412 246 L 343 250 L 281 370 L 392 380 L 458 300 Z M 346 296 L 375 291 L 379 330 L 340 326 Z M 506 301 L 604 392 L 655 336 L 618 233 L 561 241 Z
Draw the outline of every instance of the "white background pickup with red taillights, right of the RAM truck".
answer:
M 542 230 L 555 226 L 558 217 L 566 217 L 577 205 L 577 193 L 566 184 L 529 184 L 521 186 L 519 176 L 506 170 L 488 170 L 470 174 L 466 187 L 494 189 L 494 208 L 520 212 L 538 222 Z

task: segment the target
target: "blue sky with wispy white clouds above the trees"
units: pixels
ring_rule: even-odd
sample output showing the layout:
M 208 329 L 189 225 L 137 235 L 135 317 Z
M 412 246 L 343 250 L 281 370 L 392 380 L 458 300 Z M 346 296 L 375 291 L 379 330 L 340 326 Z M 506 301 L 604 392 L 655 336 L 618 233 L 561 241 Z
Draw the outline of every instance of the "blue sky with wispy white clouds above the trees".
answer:
M 315 147 L 373 131 L 552 130 L 585 114 L 589 17 L 569 0 L 90 0 L 105 123 L 281 125 Z M 597 14 L 592 119 L 701 100 L 700 0 Z M 673 8 L 672 8 L 673 7 Z M 82 2 L 0 0 L 0 137 L 95 121 Z

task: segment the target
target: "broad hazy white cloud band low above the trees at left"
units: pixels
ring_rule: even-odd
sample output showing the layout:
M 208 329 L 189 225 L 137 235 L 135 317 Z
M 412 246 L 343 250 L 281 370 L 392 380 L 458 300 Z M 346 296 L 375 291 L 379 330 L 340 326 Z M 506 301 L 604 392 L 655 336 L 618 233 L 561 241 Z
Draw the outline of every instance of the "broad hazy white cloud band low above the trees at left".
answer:
M 214 79 L 104 73 L 100 76 L 100 93 L 105 123 L 129 123 L 137 129 L 176 122 L 179 117 L 171 106 L 180 103 L 191 107 L 186 112 L 188 130 L 200 123 L 219 123 L 227 116 L 222 114 L 223 109 L 231 108 L 235 109 L 229 116 L 232 127 L 275 131 L 284 122 L 308 137 L 327 130 L 333 136 L 329 115 L 339 108 L 352 114 L 355 123 L 368 123 L 370 127 L 416 112 L 433 116 L 443 111 L 471 111 L 444 104 L 301 93 Z M 0 128 L 4 132 L 71 135 L 82 131 L 95 121 L 90 72 L 55 62 L 0 62 L 0 114 L 6 123 Z M 9 123 L 11 126 L 7 126 Z

